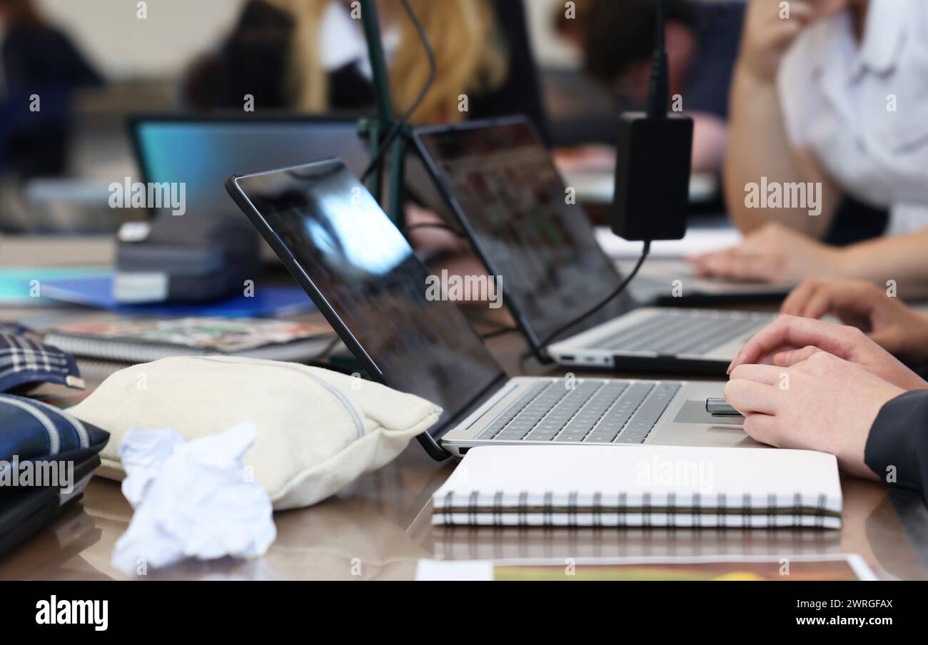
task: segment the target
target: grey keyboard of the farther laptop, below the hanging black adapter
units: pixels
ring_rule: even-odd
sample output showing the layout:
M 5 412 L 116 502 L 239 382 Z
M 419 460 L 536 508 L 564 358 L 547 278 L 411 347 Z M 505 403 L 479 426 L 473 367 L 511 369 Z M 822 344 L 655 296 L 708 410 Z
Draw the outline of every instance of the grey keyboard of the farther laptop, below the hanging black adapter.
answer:
M 766 314 L 725 312 L 655 312 L 616 331 L 591 348 L 664 355 L 701 355 L 728 342 L 751 336 L 770 322 Z

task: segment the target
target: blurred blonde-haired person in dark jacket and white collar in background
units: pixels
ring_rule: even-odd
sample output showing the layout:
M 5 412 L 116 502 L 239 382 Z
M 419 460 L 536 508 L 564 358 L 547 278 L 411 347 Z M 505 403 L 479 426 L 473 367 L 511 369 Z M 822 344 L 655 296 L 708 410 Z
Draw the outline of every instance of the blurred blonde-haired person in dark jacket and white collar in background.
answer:
M 303 112 L 370 110 L 375 105 L 361 20 L 349 2 L 250 0 L 215 54 L 198 61 L 184 95 L 195 109 L 257 108 Z M 542 109 L 521 0 L 410 0 L 435 54 L 432 89 L 416 124 L 526 114 L 544 136 Z M 419 95 L 428 59 L 399 0 L 378 2 L 394 108 Z M 460 95 L 469 98 L 458 109 Z

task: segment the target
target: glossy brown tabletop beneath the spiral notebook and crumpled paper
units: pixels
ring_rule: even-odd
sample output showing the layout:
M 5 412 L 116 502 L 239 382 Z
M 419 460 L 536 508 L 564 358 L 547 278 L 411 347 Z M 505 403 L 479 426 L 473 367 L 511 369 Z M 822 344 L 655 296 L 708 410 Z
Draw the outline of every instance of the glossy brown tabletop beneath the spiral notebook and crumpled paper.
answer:
M 0 309 L 3 319 L 67 319 L 85 309 Z M 519 334 L 489 342 L 510 374 L 559 374 L 529 360 Z M 636 375 L 637 376 L 637 375 Z M 654 375 L 651 375 L 652 377 Z M 660 375 L 657 375 L 660 378 Z M 92 385 L 92 384 L 91 384 Z M 187 562 L 150 578 L 408 579 L 420 558 L 584 558 L 858 553 L 884 578 L 924 579 L 928 511 L 881 484 L 845 478 L 841 531 L 433 528 L 430 499 L 454 463 L 417 442 L 315 507 L 277 513 L 277 541 L 255 561 Z M 0 579 L 123 579 L 110 564 L 132 517 L 119 484 L 95 479 L 83 501 L 0 559 Z

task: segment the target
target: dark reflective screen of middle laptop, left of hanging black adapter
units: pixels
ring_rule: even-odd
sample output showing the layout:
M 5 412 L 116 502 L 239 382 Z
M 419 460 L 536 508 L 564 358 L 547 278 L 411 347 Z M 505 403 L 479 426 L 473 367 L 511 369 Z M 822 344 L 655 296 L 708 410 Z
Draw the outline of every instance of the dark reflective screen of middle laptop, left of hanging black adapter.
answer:
M 524 120 L 426 128 L 416 138 L 535 343 L 618 287 L 621 278 L 599 249 L 586 213 L 571 203 L 548 151 Z M 616 299 L 572 331 L 628 308 L 627 299 Z

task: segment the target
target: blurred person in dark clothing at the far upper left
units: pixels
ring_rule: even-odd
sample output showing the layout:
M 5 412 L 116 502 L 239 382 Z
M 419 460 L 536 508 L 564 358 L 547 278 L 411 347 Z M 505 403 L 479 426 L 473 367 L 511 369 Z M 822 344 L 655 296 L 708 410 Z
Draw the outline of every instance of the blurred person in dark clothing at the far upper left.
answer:
M 74 91 L 102 84 L 32 0 L 0 0 L 0 174 L 62 174 Z

